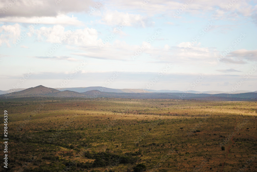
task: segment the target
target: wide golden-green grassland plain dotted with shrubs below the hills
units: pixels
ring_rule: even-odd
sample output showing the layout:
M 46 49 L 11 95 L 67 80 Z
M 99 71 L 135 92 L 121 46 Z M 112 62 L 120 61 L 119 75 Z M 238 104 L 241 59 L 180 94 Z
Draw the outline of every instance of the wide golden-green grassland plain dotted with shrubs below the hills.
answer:
M 253 101 L 21 98 L 0 109 L 2 171 L 257 171 Z

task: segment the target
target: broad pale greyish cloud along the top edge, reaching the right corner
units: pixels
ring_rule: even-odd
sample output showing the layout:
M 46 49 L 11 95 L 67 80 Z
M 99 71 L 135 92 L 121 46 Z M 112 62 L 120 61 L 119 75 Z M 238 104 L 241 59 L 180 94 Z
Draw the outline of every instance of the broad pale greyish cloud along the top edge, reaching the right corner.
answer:
M 222 20 L 237 20 L 242 17 L 251 16 L 256 23 L 256 6 L 251 5 L 251 1 L 236 1 L 235 4 L 230 6 L 231 1 L 192 1 L 192 0 L 151 0 L 151 1 L 119 1 L 111 0 L 106 2 L 106 4 L 113 9 L 120 9 L 123 11 L 137 11 L 138 13 L 144 13 L 148 16 L 153 16 L 156 14 L 163 14 L 173 18 L 173 15 L 177 11 L 182 9 L 181 13 L 190 13 L 192 15 L 205 15 L 210 13 L 214 19 Z M 187 3 L 187 5 L 186 5 Z M 183 9 L 183 8 L 184 9 Z M 179 15 L 177 18 L 181 18 Z

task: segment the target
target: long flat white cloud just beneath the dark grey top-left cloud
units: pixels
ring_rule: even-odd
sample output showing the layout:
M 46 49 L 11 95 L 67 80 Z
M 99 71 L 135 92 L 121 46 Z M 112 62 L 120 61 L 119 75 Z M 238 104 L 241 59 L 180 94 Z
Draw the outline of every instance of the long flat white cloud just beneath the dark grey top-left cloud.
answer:
M 58 14 L 57 16 L 43 16 L 43 17 L 20 17 L 20 16 L 8 16 L 0 18 L 0 22 L 11 22 L 11 23 L 31 23 L 34 25 L 38 24 L 54 24 L 54 25 L 83 25 L 81 21 L 73 15 L 67 16 L 64 14 Z

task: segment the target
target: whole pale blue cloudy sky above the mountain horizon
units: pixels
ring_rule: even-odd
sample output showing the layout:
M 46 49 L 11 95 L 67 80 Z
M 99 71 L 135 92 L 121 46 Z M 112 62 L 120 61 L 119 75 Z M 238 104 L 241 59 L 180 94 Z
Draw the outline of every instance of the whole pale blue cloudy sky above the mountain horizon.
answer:
M 0 90 L 257 90 L 257 0 L 0 0 Z

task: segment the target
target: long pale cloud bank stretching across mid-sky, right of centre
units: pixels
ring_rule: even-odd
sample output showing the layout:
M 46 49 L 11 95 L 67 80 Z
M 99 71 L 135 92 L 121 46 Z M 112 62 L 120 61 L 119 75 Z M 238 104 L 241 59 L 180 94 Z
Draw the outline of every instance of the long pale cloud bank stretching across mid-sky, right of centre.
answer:
M 102 41 L 102 40 L 100 40 Z M 158 41 L 158 40 L 154 40 Z M 79 47 L 82 52 L 72 53 L 73 55 L 96 58 L 96 59 L 113 59 L 122 61 L 133 61 L 148 56 L 158 61 L 171 61 L 178 63 L 203 62 L 205 64 L 217 63 L 216 54 L 218 52 L 212 48 L 201 47 L 201 44 L 193 45 L 187 48 L 189 42 L 182 42 L 177 46 L 165 44 L 163 47 L 154 47 L 148 42 L 141 45 L 129 45 L 124 41 L 115 40 L 112 44 L 107 43 L 102 49 L 98 46 Z M 141 51 L 140 47 L 146 47 Z M 84 52 L 83 52 L 84 51 Z M 136 52 L 141 52 L 136 56 Z M 132 58 L 136 56 L 136 58 Z

